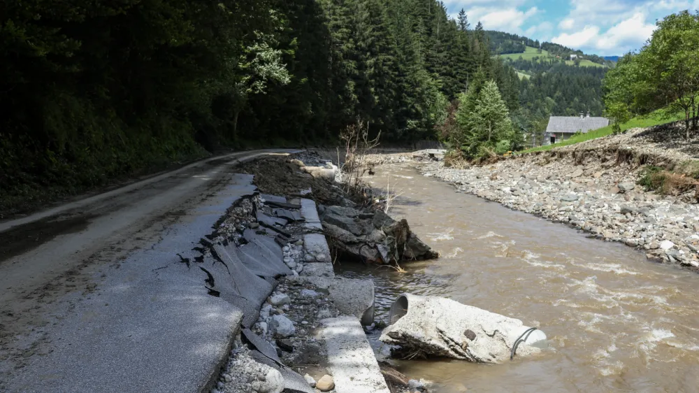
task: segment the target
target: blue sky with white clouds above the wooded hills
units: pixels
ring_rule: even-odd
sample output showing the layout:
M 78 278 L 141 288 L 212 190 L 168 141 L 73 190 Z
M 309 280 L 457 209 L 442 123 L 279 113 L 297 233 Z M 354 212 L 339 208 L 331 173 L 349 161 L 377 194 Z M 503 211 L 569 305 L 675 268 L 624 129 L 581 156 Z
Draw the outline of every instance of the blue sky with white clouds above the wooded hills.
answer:
M 656 20 L 696 10 L 699 0 L 442 0 L 456 17 L 463 8 L 471 27 L 507 31 L 560 43 L 596 55 L 638 50 Z

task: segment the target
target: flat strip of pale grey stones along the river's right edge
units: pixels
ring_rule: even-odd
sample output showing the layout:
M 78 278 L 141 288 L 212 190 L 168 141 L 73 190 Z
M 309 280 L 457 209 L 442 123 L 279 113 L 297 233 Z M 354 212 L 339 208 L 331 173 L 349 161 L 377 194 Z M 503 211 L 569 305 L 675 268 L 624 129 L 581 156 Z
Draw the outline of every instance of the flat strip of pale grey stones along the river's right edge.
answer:
M 625 243 L 658 262 L 699 271 L 696 204 L 643 192 L 628 169 L 556 164 L 538 166 L 514 159 L 470 169 L 431 163 L 420 170 L 424 176 L 453 183 L 461 192 Z

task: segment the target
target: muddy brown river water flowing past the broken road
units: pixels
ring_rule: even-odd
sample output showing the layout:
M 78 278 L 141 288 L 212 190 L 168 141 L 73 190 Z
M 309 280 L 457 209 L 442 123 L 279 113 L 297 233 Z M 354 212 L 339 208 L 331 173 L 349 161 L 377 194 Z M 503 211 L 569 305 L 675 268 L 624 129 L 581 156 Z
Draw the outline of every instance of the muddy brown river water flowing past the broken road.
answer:
M 389 180 L 390 179 L 390 180 Z M 407 272 L 342 266 L 373 278 L 377 317 L 398 294 L 445 296 L 540 326 L 551 348 L 495 366 L 394 360 L 438 392 L 699 392 L 699 276 L 648 262 L 617 243 L 456 193 L 408 164 L 367 178 L 402 193 L 391 215 L 407 218 L 442 252 Z M 387 349 L 372 338 L 381 355 Z

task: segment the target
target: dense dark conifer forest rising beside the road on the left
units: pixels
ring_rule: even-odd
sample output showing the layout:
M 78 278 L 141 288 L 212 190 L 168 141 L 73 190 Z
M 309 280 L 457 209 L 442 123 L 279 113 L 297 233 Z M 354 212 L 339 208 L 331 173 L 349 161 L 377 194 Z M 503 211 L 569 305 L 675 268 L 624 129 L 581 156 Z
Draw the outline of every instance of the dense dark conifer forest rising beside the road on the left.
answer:
M 556 96 L 548 73 L 521 83 L 480 23 L 435 0 L 6 1 L 0 15 L 0 205 L 220 148 L 332 143 L 358 119 L 384 142 L 436 138 L 468 97 L 481 115 L 502 101 L 515 133 L 598 109 Z

